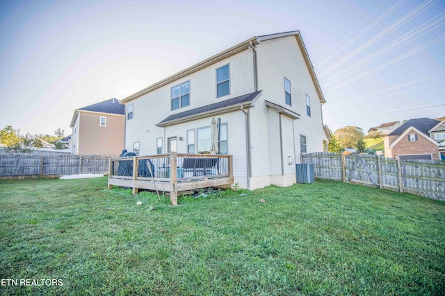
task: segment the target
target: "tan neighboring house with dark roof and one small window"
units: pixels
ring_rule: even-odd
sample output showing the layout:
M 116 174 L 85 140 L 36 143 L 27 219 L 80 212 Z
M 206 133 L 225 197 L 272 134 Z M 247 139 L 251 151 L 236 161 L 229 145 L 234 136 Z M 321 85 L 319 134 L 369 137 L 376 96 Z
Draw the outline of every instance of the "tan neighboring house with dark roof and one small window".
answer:
M 125 105 L 116 98 L 74 111 L 71 153 L 120 155 L 124 149 Z

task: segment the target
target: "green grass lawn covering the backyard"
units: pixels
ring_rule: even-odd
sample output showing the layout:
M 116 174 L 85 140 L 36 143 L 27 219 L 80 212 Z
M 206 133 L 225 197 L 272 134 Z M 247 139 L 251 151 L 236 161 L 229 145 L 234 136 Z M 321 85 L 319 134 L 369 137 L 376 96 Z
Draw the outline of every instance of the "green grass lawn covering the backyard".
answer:
M 63 280 L 0 294 L 444 295 L 445 202 L 318 181 L 168 203 L 0 180 L 0 279 Z

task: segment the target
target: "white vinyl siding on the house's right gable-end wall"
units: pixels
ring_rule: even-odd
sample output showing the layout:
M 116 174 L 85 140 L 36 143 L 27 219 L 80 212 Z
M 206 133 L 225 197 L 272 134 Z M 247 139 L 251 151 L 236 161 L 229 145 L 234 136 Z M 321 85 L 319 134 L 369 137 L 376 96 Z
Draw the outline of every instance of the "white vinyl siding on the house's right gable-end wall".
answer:
M 262 90 L 262 93 L 255 107 L 250 109 L 250 125 L 255 127 L 252 128 L 252 151 L 254 151 L 252 171 L 254 175 L 275 175 L 272 165 L 270 168 L 257 165 L 266 158 L 275 157 L 271 148 L 279 144 L 275 139 L 278 130 L 271 132 L 267 130 L 267 121 L 270 121 L 270 112 L 267 110 L 272 108 L 266 108 L 264 101 L 270 101 L 300 114 L 300 119 L 293 120 L 296 163 L 300 163 L 300 134 L 311 135 L 307 137 L 307 153 L 323 151 L 323 140 L 327 139 L 323 130 L 320 98 L 296 37 L 265 40 L 257 45 L 257 53 L 258 88 Z M 286 105 L 284 102 L 283 77 L 291 81 L 292 105 Z M 307 116 L 306 94 L 311 101 L 311 116 Z M 261 145 L 264 141 L 269 142 L 267 147 Z M 270 163 L 275 162 L 270 160 Z

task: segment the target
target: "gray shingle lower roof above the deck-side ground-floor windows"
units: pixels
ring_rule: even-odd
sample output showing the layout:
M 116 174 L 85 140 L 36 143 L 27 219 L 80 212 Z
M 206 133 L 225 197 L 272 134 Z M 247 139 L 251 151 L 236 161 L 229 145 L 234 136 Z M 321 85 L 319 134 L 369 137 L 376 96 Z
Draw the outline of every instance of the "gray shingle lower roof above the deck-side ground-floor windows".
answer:
M 195 109 L 187 110 L 187 111 L 180 112 L 177 114 L 172 114 L 158 124 L 166 123 L 168 121 L 175 121 L 177 119 L 181 119 L 181 118 L 188 117 L 188 116 L 199 115 L 199 114 L 202 114 L 205 112 L 210 112 L 213 110 L 223 109 L 225 107 L 230 107 L 233 105 L 238 105 L 238 104 L 242 104 L 242 103 L 250 103 L 250 102 L 254 101 L 254 99 L 257 98 L 257 96 L 260 93 L 261 93 L 261 91 L 252 92 L 250 94 L 245 94 L 243 96 L 237 96 L 236 98 L 229 98 L 228 100 L 220 101 L 218 103 L 213 103 L 210 105 L 197 107 Z

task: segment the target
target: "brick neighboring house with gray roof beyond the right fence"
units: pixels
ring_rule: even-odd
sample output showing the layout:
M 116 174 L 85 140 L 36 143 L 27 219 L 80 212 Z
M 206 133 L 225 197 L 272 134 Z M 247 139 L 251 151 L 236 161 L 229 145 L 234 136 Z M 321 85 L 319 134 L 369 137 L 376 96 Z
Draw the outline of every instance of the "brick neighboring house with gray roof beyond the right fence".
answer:
M 445 139 L 443 121 L 410 119 L 385 137 L 385 157 L 438 160 L 442 137 Z

